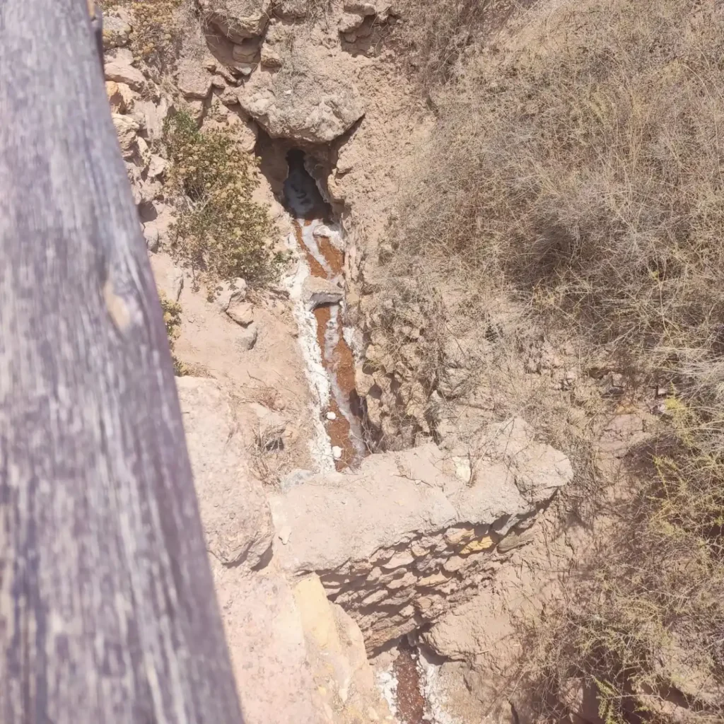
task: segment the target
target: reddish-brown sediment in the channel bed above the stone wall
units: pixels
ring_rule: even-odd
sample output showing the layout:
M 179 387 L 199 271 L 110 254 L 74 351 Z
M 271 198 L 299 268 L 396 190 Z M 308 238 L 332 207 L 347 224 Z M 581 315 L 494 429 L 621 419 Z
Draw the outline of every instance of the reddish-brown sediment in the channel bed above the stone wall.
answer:
M 329 266 L 329 273 L 319 264 L 319 261 L 313 257 L 308 248 L 306 247 L 302 237 L 301 224 L 308 226 L 311 224 L 311 220 L 305 219 L 303 222 L 295 220 L 293 222 L 295 237 L 301 251 L 303 251 L 309 269 L 313 277 L 321 277 L 322 279 L 334 279 L 342 273 L 342 267 L 344 266 L 344 254 L 342 251 L 337 249 L 327 237 L 318 237 L 317 246 L 324 261 Z M 327 371 L 330 377 L 334 376 L 337 382 L 337 388 L 339 394 L 344 397 L 342 404 L 348 411 L 352 411 L 355 414 L 355 410 L 358 406 L 358 397 L 355 390 L 355 362 L 350 350 L 349 345 L 345 341 L 344 334 L 342 334 L 342 315 L 337 314 L 336 324 L 337 330 L 335 336 L 337 337 L 337 344 L 333 350 L 328 350 L 328 345 L 325 343 L 324 335 L 327 332 L 327 328 L 332 321 L 332 308 L 328 305 L 319 306 L 314 310 L 314 317 L 317 325 L 317 341 L 319 342 L 319 348 L 321 350 L 322 365 Z M 327 419 L 327 413 L 334 413 L 334 420 Z M 342 456 L 339 460 L 334 461 L 334 465 L 337 470 L 343 470 L 352 465 L 355 460 L 361 457 L 361 450 L 364 449 L 363 445 L 358 441 L 358 445 L 355 445 L 352 435 L 353 431 L 350 426 L 348 418 L 342 413 L 340 409 L 340 403 L 335 398 L 334 391 L 329 395 L 329 407 L 322 411 L 324 415 L 324 426 L 327 429 L 327 434 L 332 442 L 332 446 L 339 447 L 342 450 Z

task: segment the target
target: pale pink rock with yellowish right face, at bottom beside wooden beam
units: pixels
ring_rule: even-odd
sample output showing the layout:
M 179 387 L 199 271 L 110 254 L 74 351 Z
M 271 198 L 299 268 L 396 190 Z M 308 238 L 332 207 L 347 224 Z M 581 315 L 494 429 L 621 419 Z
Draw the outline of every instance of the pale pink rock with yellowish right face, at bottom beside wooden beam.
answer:
M 212 560 L 245 724 L 390 721 L 361 631 L 312 576 L 251 576 Z

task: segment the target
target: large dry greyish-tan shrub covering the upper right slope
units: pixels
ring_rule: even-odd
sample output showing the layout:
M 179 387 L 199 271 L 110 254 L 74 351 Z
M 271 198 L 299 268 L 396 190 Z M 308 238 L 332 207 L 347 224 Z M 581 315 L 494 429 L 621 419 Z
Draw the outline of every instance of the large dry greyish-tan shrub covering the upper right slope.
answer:
M 486 54 L 445 93 L 392 242 L 639 364 L 717 350 L 724 23 L 696 6 L 564 5 L 552 37 Z

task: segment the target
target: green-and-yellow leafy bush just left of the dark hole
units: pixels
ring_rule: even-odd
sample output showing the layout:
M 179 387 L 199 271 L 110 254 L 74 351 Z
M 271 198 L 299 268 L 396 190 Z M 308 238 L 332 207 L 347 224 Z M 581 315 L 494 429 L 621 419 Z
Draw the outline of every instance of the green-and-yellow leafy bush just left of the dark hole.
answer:
M 277 279 L 286 257 L 271 249 L 269 210 L 251 199 L 258 186 L 256 163 L 240 150 L 232 130 L 201 131 L 182 111 L 167 121 L 164 138 L 178 209 L 174 253 L 209 288 L 235 277 L 252 285 Z

